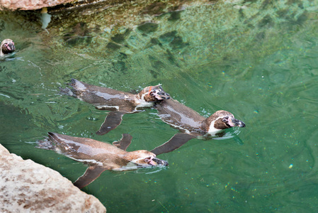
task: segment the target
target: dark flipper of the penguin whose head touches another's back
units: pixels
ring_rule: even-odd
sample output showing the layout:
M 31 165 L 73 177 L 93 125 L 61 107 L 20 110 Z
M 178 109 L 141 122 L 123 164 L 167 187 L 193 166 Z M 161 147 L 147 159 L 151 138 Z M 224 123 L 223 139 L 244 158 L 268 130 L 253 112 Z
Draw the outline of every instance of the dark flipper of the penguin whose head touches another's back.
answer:
M 123 115 L 125 111 L 110 111 L 106 116 L 105 121 L 101 124 L 101 128 L 96 131 L 96 134 L 102 136 L 113 129 L 116 129 L 117 126 L 123 121 Z

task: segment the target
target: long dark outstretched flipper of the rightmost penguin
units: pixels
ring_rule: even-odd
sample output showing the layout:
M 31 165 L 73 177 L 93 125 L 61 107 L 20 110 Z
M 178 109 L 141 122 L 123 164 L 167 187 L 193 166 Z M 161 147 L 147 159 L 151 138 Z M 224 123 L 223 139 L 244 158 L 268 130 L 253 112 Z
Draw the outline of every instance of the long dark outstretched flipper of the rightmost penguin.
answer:
M 192 138 L 195 138 L 195 136 L 192 136 L 188 133 L 176 133 L 172 138 L 170 138 L 169 141 L 162 144 L 161 146 L 157 146 L 151 152 L 155 155 L 169 153 L 183 146 L 183 144 L 190 141 Z

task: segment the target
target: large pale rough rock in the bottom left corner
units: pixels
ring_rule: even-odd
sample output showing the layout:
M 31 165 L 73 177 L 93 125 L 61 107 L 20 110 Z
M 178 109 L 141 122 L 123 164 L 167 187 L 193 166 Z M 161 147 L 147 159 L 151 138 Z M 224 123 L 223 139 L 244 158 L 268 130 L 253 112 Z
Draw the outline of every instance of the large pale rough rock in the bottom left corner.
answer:
M 0 212 L 106 212 L 55 170 L 23 160 L 0 144 Z

